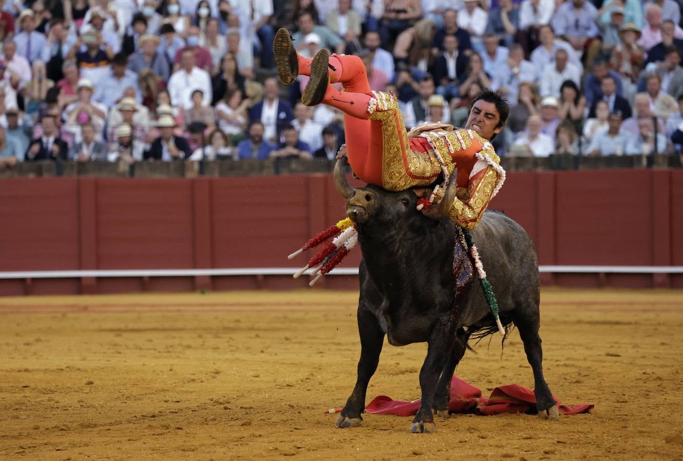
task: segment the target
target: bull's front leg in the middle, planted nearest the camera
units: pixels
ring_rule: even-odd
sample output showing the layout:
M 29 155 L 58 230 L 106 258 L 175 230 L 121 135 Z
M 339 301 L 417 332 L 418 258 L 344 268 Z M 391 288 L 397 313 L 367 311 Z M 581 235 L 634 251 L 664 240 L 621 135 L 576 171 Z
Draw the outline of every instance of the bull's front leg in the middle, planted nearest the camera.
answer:
M 449 356 L 449 342 L 450 329 L 445 325 L 443 327 L 437 326 L 432 331 L 432 336 L 427 343 L 427 358 L 422 364 L 420 370 L 420 387 L 422 389 L 422 401 L 420 408 L 413 419 L 413 426 L 410 426 L 410 432 L 434 432 L 436 425 L 434 424 L 434 415 L 432 414 L 432 404 L 434 402 L 434 391 L 436 390 L 436 383 L 438 377 L 441 376 L 446 359 Z

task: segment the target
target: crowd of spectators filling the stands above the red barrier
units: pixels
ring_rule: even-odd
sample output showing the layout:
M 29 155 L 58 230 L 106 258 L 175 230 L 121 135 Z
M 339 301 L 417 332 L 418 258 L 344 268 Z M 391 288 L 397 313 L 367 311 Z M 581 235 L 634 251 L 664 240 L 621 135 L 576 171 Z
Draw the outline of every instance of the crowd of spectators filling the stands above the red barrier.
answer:
M 683 145 L 683 0 L 4 0 L 0 168 L 34 160 L 333 159 L 344 117 L 279 85 L 298 53 L 363 59 L 406 128 L 510 102 L 500 155 Z

